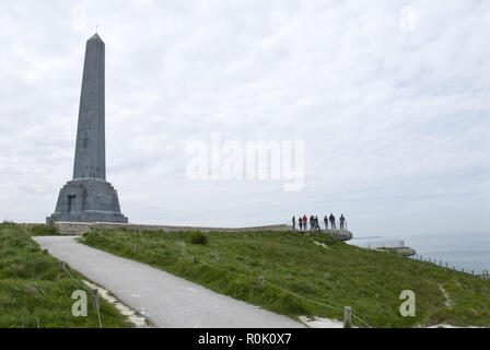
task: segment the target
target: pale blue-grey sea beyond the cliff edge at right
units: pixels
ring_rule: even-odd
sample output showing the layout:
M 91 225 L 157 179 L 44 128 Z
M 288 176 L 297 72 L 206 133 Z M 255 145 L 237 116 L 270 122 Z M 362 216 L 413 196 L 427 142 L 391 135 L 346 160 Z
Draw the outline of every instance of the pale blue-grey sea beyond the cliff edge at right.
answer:
M 402 237 L 371 236 L 354 237 L 350 244 L 366 247 L 405 246 L 416 249 L 417 256 L 424 260 L 431 259 L 438 265 L 456 268 L 465 272 L 481 275 L 483 270 L 490 272 L 490 232 L 489 233 L 440 233 L 411 234 Z

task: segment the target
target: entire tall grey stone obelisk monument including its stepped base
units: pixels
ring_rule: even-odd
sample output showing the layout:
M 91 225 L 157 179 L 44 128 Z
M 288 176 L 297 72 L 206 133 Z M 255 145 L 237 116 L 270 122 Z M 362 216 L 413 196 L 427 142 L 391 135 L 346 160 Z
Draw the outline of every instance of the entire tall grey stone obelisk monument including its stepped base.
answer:
M 95 34 L 86 42 L 80 96 L 73 179 L 59 191 L 47 222 L 128 222 L 105 174 L 105 45 Z

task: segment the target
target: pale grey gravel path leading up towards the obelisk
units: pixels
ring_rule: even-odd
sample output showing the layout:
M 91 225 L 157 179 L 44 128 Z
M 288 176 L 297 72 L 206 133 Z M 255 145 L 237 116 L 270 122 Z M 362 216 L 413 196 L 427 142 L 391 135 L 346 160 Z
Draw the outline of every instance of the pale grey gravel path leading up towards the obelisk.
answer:
M 155 327 L 305 327 L 289 317 L 215 293 L 151 266 L 85 246 L 75 238 L 33 237 L 50 255 L 109 290 Z

